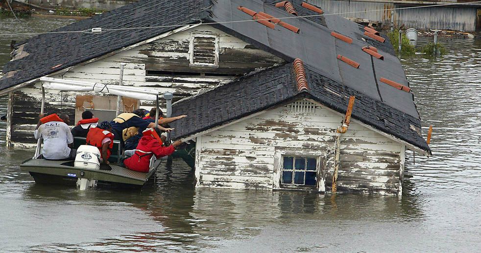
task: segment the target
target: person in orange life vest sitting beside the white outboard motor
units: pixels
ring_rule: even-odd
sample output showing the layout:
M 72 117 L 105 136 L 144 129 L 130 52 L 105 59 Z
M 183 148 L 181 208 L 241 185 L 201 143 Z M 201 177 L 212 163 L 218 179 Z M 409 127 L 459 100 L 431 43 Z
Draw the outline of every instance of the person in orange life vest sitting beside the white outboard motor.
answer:
M 87 145 L 96 146 L 100 151 L 100 162 L 110 164 L 109 158 L 114 147 L 114 134 L 109 121 L 103 121 L 98 126 L 90 128 L 87 134 Z

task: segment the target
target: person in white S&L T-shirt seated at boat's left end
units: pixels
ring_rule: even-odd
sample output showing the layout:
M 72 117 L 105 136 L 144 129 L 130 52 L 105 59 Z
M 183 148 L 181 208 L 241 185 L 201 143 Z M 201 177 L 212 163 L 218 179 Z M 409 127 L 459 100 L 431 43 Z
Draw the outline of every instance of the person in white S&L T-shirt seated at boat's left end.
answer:
M 74 160 L 76 150 L 72 149 L 73 136 L 68 124 L 69 115 L 48 114 L 40 115 L 34 137 L 43 138 L 43 158 L 47 160 Z

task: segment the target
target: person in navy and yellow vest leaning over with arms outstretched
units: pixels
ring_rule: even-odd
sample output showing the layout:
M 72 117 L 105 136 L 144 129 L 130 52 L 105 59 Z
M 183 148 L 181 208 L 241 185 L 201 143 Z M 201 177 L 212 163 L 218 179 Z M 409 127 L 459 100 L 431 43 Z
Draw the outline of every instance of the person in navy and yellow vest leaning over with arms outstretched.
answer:
M 140 114 L 140 113 L 139 113 Z M 111 122 L 112 133 L 114 138 L 120 141 L 142 133 L 147 128 L 155 128 L 155 123 L 143 119 L 141 116 L 134 113 L 122 113 L 114 118 Z M 172 128 L 165 128 L 161 125 L 157 126 L 160 130 L 170 132 Z

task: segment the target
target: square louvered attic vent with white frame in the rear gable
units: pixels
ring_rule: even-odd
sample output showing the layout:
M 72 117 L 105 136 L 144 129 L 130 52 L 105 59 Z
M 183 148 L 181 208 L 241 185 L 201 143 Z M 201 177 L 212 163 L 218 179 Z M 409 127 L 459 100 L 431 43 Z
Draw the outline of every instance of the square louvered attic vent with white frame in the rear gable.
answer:
M 191 34 L 189 45 L 190 65 L 218 67 L 219 38 L 215 34 Z

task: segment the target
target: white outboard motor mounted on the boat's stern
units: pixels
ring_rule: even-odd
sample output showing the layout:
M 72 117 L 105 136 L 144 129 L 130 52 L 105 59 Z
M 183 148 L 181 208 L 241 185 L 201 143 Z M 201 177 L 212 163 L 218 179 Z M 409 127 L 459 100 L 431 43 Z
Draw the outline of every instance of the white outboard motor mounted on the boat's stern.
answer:
M 75 156 L 73 164 L 76 168 L 100 169 L 100 151 L 95 146 L 81 145 L 77 149 L 77 155 Z M 96 180 L 88 180 L 86 178 L 77 179 L 77 187 L 79 187 L 80 190 L 94 187 L 96 184 Z

